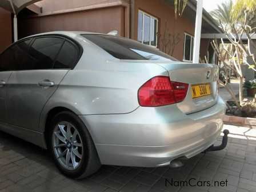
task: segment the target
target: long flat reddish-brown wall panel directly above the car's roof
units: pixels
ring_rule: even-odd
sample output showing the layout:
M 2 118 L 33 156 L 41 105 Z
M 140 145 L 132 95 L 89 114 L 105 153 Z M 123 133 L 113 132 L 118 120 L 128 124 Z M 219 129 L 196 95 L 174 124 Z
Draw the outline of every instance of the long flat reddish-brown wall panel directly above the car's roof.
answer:
M 49 1 L 46 1 L 49 2 Z M 47 31 L 90 31 L 109 33 L 118 30 L 124 35 L 124 8 L 122 6 L 47 15 L 42 17 L 19 18 L 19 38 Z

